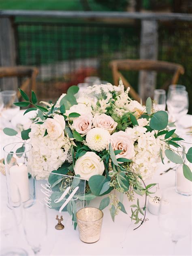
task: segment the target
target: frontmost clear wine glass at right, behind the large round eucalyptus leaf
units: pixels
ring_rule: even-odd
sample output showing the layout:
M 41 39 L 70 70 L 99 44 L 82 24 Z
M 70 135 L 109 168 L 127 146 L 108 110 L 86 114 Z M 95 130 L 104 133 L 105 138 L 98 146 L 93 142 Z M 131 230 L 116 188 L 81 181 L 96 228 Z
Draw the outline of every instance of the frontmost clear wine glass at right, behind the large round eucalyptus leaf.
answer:
M 168 112 L 171 114 L 177 125 L 179 124 L 179 118 L 188 113 L 189 98 L 188 92 L 185 90 L 171 90 L 169 94 L 169 102 L 167 103 Z

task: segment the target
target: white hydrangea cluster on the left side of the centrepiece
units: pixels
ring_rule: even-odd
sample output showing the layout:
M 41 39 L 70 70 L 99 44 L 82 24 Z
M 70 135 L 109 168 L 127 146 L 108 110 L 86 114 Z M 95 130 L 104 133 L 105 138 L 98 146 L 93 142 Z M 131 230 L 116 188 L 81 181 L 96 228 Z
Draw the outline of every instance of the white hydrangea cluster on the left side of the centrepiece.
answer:
M 44 125 L 32 124 L 29 136 L 32 144 L 34 176 L 36 179 L 47 179 L 51 171 L 62 166 L 66 160 L 67 151 L 73 143 L 63 134 L 56 140 L 51 139 L 48 134 L 43 137 L 44 134 Z

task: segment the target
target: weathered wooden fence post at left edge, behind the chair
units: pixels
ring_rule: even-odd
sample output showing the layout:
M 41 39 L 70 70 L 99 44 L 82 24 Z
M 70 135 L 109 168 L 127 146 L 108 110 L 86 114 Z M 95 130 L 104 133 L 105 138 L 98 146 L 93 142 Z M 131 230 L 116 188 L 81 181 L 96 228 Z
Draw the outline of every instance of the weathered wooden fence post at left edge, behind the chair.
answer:
M 0 66 L 16 65 L 13 18 L 0 17 Z M 17 90 L 17 78 L 1 78 L 0 90 Z

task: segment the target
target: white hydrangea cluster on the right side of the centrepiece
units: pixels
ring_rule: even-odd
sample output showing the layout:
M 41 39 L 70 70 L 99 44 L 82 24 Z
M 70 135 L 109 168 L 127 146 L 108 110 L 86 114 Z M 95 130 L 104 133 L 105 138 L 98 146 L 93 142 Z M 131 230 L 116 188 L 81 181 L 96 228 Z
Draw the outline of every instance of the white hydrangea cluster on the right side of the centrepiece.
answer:
M 142 127 L 141 127 L 142 128 Z M 134 128 L 133 128 L 134 129 Z M 151 178 L 160 162 L 161 142 L 155 138 L 154 131 L 141 133 L 135 145 L 135 156 L 130 167 L 143 179 Z

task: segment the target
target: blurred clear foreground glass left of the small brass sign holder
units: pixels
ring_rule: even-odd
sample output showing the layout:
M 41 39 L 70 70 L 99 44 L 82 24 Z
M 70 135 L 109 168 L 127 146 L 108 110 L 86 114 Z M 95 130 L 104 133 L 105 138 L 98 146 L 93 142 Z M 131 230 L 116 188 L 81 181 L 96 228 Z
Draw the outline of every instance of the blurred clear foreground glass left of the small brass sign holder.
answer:
M 34 254 L 38 254 L 47 235 L 47 211 L 44 203 L 37 200 L 23 203 L 23 229 L 28 244 Z

